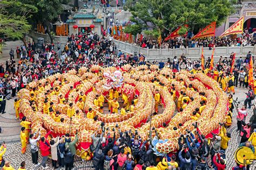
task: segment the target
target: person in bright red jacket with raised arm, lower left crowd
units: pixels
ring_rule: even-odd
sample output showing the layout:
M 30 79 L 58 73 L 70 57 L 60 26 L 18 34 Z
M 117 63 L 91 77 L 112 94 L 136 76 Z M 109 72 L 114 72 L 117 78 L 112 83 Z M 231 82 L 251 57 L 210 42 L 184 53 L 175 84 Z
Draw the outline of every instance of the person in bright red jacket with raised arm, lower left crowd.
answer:
M 41 141 L 40 141 L 40 150 L 41 150 L 41 154 L 42 154 L 42 157 L 43 157 L 43 160 L 42 160 L 42 168 L 43 169 L 47 169 L 48 166 L 46 166 L 46 161 L 47 161 L 47 158 L 48 158 L 48 155 L 50 154 L 50 143 L 49 141 L 47 140 L 49 134 L 51 133 L 51 131 L 49 131 L 48 133 L 45 134 L 44 137 L 41 138 Z

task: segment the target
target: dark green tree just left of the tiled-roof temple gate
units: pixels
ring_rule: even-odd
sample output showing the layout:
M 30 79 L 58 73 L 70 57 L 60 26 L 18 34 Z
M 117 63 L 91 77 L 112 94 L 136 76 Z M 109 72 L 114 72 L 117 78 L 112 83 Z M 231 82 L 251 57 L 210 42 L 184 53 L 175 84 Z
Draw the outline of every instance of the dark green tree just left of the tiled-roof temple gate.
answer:
M 32 23 L 42 23 L 46 26 L 51 42 L 53 42 L 51 23 L 63 12 L 62 4 L 68 4 L 70 0 L 19 0 L 28 5 L 35 5 L 38 12 L 33 15 Z

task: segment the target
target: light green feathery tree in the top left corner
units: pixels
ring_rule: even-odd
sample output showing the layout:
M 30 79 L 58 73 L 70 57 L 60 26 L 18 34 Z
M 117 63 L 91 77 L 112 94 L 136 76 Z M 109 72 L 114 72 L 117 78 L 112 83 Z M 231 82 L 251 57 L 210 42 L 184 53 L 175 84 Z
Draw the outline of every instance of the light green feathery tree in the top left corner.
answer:
M 27 19 L 37 8 L 11 0 L 0 1 L 0 9 L 0 34 L 9 39 L 22 39 L 26 46 L 25 34 L 31 29 Z

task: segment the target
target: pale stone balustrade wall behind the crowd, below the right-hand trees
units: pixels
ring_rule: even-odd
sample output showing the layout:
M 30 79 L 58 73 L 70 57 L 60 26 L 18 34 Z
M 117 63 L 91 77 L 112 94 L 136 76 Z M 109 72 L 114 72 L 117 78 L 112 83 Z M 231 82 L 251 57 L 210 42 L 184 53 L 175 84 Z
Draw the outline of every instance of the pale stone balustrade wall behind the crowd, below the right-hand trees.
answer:
M 167 58 L 173 58 L 174 56 L 180 56 L 185 54 L 185 56 L 191 59 L 198 59 L 201 56 L 200 48 L 164 48 L 164 49 L 148 49 L 135 46 L 126 42 L 114 40 L 117 49 L 124 53 L 143 53 L 147 60 L 152 61 L 155 59 L 167 60 Z M 236 56 L 246 56 L 246 54 L 251 51 L 253 55 L 256 54 L 256 46 L 240 46 L 240 47 L 216 47 L 214 58 L 218 60 L 219 56 L 230 56 L 232 52 L 236 53 Z M 212 50 L 209 48 L 204 48 L 205 58 L 212 55 Z

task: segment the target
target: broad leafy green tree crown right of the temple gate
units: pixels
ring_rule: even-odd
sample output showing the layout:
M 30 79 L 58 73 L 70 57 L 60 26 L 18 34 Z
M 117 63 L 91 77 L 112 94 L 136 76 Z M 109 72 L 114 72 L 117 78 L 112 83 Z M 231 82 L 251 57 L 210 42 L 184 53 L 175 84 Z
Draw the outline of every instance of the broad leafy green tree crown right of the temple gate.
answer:
M 211 22 L 217 26 L 223 23 L 232 12 L 232 2 L 228 0 L 127 0 L 125 9 L 132 13 L 127 30 L 140 33 L 147 30 L 148 34 L 156 31 L 169 34 L 179 26 L 188 24 L 194 33 Z M 138 29 L 139 28 L 139 29 Z M 180 33 L 184 33 L 183 27 Z

